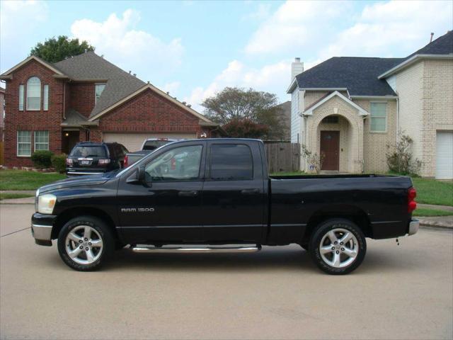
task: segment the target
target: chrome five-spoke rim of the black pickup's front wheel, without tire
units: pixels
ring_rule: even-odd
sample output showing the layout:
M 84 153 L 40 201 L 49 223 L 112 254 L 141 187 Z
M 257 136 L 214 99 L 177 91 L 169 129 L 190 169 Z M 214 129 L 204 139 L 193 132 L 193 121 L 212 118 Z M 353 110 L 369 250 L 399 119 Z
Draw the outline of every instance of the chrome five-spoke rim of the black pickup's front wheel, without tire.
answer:
M 72 261 L 80 264 L 91 264 L 97 261 L 103 250 L 101 235 L 89 225 L 78 225 L 71 229 L 64 244 Z

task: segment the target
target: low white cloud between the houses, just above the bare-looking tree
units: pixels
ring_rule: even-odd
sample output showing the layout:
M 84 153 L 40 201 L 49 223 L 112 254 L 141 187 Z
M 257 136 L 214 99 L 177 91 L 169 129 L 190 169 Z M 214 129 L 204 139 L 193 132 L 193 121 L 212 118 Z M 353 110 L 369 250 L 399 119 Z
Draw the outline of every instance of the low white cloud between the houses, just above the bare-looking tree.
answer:
M 205 88 L 196 87 L 190 96 L 184 100 L 193 104 L 195 110 L 202 112 L 203 108 L 200 106 L 202 101 L 214 96 L 226 86 L 239 86 L 246 89 L 251 87 L 258 91 L 269 91 L 271 93 L 280 92 L 281 89 L 286 89 L 285 86 L 288 86 L 290 64 L 290 60 L 282 60 L 275 64 L 253 68 L 247 67 L 246 64 L 238 60 L 233 60 L 208 86 Z

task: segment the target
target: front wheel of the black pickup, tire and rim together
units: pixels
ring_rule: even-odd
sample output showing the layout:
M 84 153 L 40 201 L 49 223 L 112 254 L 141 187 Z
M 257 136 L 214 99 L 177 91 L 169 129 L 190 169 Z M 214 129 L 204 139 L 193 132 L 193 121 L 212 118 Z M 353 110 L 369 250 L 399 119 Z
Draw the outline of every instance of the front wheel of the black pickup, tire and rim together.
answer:
M 81 216 L 69 220 L 59 232 L 58 252 L 76 271 L 95 271 L 115 249 L 115 240 L 102 220 Z

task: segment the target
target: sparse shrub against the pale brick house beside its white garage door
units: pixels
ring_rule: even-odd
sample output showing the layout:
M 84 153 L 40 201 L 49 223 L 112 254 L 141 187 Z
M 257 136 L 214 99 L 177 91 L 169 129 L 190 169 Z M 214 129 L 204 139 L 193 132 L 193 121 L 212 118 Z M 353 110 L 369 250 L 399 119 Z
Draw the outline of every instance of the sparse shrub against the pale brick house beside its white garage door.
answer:
M 411 151 L 412 142 L 411 137 L 404 135 L 400 131 L 398 132 L 396 143 L 394 145 L 387 145 L 386 159 L 391 172 L 402 175 L 418 174 L 422 162 L 418 159 L 413 159 Z

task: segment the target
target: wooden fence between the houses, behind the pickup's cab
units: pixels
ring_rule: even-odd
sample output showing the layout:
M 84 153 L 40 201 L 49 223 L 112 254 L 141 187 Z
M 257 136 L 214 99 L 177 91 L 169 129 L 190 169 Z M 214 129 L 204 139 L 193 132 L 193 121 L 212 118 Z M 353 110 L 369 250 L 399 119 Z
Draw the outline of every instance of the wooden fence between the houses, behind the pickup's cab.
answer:
M 300 145 L 290 142 L 264 142 L 269 173 L 299 171 Z

